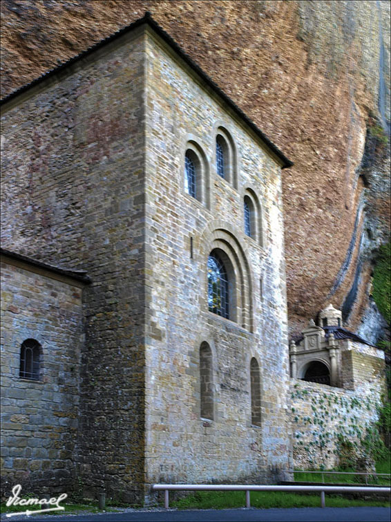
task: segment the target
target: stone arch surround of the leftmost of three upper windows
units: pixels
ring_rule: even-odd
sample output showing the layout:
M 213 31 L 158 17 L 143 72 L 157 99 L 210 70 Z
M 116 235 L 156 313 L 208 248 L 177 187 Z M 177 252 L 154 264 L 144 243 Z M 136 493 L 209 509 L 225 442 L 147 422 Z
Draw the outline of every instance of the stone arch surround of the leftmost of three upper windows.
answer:
M 211 179 L 210 179 L 210 166 L 207 154 L 205 153 L 205 147 L 202 145 L 202 141 L 193 136 L 193 134 L 187 134 L 182 147 L 181 153 L 181 187 L 182 192 L 185 193 L 184 189 L 184 171 L 185 171 L 185 157 L 189 151 L 193 156 L 193 160 L 196 163 L 196 200 L 202 203 L 207 209 L 211 209 Z

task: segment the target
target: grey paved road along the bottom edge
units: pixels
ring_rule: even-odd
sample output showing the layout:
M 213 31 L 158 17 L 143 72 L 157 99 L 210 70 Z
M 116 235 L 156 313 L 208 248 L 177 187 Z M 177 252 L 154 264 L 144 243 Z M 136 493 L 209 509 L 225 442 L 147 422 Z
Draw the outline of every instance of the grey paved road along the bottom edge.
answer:
M 1 521 L 31 522 L 390 522 L 387 507 L 301 507 L 289 510 L 126 510 L 121 513 L 104 513 L 68 516 L 12 516 Z

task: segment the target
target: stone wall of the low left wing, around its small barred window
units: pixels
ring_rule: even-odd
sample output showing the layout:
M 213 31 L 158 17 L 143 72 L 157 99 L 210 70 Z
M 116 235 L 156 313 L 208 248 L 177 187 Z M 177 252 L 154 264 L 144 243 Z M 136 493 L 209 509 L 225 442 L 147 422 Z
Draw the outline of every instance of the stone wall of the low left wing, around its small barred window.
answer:
M 1 487 L 69 492 L 76 474 L 82 288 L 2 262 L 1 326 Z M 19 377 L 26 339 L 41 344 L 39 380 Z

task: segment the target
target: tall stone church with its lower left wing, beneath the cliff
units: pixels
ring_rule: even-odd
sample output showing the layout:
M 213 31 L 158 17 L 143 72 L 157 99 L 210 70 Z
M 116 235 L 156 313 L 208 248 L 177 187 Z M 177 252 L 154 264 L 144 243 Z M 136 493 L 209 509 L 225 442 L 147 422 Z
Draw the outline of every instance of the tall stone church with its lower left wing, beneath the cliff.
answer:
M 2 129 L 3 488 L 283 478 L 292 162 L 149 15 Z

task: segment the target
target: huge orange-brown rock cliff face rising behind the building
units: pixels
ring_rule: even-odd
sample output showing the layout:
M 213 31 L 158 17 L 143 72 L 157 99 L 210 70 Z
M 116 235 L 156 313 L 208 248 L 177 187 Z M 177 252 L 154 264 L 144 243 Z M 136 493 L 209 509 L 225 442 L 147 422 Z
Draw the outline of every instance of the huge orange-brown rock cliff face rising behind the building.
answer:
M 295 163 L 283 171 L 292 333 L 330 301 L 373 333 L 372 252 L 390 230 L 388 1 L 3 0 L 1 10 L 3 96 L 151 11 Z

